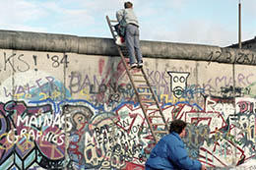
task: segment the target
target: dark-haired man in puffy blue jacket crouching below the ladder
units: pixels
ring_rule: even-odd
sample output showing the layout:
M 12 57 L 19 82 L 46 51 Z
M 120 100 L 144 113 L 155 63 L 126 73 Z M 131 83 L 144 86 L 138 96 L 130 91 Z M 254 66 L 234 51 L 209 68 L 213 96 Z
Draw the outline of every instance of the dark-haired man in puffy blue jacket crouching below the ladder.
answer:
M 206 170 L 198 160 L 191 159 L 181 138 L 185 137 L 186 123 L 174 120 L 169 127 L 169 135 L 160 139 L 146 162 L 146 170 Z

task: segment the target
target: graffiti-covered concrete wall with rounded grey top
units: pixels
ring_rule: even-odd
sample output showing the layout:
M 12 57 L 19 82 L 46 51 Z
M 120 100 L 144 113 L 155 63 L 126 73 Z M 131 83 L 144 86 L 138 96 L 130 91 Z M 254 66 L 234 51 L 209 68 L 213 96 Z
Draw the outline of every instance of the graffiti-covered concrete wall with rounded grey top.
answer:
M 1 170 L 143 169 L 151 133 L 111 39 L 1 30 L 0 48 Z M 209 168 L 254 161 L 255 52 L 142 50 L 167 121 L 189 123 L 191 157 Z

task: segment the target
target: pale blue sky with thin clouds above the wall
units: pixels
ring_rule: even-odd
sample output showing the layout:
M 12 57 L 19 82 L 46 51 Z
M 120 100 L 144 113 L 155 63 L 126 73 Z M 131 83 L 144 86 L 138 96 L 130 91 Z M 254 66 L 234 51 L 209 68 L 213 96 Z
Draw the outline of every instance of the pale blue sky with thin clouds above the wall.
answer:
M 239 0 L 130 0 L 140 39 L 228 46 L 238 42 Z M 111 37 L 125 0 L 0 0 L 0 29 Z M 240 0 L 241 39 L 256 36 L 256 0 Z

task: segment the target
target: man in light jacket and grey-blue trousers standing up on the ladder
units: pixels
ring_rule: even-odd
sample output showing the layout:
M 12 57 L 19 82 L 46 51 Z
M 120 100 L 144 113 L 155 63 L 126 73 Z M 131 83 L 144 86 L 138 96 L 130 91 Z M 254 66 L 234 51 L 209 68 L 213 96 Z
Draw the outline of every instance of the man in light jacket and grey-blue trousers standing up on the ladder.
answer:
M 139 22 L 133 11 L 131 2 L 124 3 L 124 9 L 116 12 L 117 21 L 120 27 L 125 28 L 125 43 L 130 58 L 130 67 L 143 67 L 143 59 L 140 48 Z M 135 61 L 137 59 L 137 63 Z

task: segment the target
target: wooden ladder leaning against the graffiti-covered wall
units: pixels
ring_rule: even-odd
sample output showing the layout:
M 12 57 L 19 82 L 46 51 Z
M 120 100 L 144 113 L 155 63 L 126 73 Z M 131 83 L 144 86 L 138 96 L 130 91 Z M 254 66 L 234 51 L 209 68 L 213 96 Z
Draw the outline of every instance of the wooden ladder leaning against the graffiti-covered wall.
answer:
M 114 26 L 117 25 L 118 22 L 110 20 L 108 16 L 106 16 L 106 21 L 115 42 L 118 33 L 115 30 Z M 125 60 L 125 57 L 127 58 L 129 55 L 127 48 L 125 46 L 119 46 L 117 44 L 116 47 L 118 53 L 121 56 L 121 60 L 129 77 L 129 80 L 134 88 L 135 95 L 137 96 L 137 99 L 140 103 L 145 119 L 151 130 L 153 140 L 157 143 L 160 141 L 160 137 L 168 134 L 168 124 L 162 114 L 158 97 L 153 91 L 152 85 L 150 85 L 144 69 L 131 69 L 130 66 L 128 66 Z M 151 107 L 152 105 L 154 105 L 154 107 Z M 141 130 L 142 128 L 143 125 L 141 126 Z

